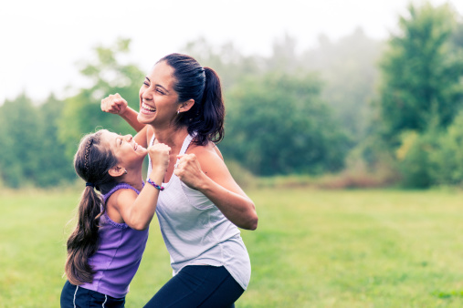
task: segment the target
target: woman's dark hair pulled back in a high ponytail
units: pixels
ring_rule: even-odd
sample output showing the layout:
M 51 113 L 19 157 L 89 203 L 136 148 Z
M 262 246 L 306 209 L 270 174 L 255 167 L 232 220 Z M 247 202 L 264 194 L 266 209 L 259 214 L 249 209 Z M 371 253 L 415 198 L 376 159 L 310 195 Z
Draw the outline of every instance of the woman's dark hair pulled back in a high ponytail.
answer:
M 192 56 L 171 54 L 165 61 L 174 68 L 174 90 L 179 102 L 194 99 L 195 105 L 179 115 L 177 124 L 196 133 L 195 143 L 204 146 L 208 141 L 215 143 L 224 138 L 225 106 L 220 79 L 214 69 L 201 67 Z

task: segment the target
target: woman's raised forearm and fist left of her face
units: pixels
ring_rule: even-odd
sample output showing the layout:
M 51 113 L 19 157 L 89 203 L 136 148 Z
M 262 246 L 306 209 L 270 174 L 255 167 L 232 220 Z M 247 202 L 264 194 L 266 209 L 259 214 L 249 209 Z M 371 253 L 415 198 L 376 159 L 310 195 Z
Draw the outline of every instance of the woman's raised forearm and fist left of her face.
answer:
M 140 132 L 145 127 L 137 119 L 138 112 L 130 108 L 127 101 L 119 93 L 101 99 L 101 110 L 121 116 L 137 132 Z

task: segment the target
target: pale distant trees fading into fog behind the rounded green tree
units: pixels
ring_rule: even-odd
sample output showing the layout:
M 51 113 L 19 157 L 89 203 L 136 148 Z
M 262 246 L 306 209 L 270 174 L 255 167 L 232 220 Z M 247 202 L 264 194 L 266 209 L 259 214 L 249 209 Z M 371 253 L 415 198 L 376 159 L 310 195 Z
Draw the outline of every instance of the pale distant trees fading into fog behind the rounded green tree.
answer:
M 360 28 L 336 43 L 321 36 L 320 46 L 300 54 L 297 43 L 285 34 L 274 41 L 271 56 L 243 56 L 231 43 L 213 47 L 200 38 L 188 43 L 184 52 L 216 69 L 226 91 L 243 78 L 260 78 L 268 72 L 292 75 L 316 71 L 323 81 L 321 98 L 331 106 L 336 120 L 353 140 L 363 139 L 381 44 L 365 36 Z

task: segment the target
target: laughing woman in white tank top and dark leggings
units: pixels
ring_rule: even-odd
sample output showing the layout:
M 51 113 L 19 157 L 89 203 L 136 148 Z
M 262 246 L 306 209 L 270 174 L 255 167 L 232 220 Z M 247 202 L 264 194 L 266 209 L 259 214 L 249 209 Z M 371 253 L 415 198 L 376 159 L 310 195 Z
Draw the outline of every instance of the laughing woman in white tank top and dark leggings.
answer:
M 156 213 L 174 277 L 146 307 L 233 307 L 250 279 L 237 227 L 255 230 L 258 215 L 215 145 L 224 134 L 220 80 L 193 57 L 171 54 L 145 77 L 139 98 L 138 115 L 117 94 L 101 109 L 128 121 L 142 145 L 155 139 L 171 149 Z

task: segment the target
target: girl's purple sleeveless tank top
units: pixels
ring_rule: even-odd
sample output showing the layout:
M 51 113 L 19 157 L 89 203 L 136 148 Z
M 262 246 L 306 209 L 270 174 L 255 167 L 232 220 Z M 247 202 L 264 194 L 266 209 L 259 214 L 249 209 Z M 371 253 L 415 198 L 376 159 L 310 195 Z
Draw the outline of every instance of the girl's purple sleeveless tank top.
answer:
M 103 195 L 104 202 L 121 189 L 134 190 L 140 194 L 131 185 L 121 183 Z M 121 298 L 129 292 L 129 284 L 142 261 L 148 229 L 133 230 L 126 223 L 111 221 L 106 213 L 100 217 L 100 226 L 100 247 L 89 257 L 89 264 L 95 271 L 93 282 L 84 283 L 80 287 Z

